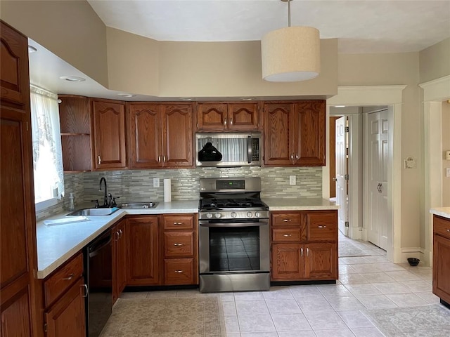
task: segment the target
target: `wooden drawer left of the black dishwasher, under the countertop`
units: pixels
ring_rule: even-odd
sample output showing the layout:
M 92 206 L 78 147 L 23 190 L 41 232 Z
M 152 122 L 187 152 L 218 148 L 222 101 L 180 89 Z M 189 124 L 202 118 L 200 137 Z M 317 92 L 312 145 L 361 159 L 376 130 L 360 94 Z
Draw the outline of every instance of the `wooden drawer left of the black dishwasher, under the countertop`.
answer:
M 59 267 L 56 272 L 44 282 L 45 306 L 46 308 L 53 303 L 62 293 L 69 289 L 77 279 L 83 275 L 83 254 L 80 253 L 70 262 Z

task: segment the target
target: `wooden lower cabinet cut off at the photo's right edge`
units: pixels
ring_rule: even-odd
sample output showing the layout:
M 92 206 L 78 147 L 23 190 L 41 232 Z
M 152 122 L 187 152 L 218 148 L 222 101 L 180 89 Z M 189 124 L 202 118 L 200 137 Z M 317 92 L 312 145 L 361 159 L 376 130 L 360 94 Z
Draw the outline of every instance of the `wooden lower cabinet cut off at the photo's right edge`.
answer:
M 433 293 L 450 304 L 450 219 L 433 216 Z

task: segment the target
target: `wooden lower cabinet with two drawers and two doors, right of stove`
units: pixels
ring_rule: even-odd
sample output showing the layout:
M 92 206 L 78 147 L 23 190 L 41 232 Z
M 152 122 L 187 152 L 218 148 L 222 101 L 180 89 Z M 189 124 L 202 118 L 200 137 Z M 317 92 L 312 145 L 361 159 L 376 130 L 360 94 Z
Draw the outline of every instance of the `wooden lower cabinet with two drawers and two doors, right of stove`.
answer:
M 271 280 L 338 279 L 337 211 L 271 213 Z

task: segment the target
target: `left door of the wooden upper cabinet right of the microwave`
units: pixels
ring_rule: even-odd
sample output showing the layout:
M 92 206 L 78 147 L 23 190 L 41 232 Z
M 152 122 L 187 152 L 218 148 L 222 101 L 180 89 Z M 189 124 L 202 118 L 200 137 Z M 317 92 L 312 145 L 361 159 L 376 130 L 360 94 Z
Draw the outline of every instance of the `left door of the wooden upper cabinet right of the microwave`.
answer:
M 293 140 L 292 110 L 290 103 L 264 105 L 264 164 L 266 166 L 292 166 Z

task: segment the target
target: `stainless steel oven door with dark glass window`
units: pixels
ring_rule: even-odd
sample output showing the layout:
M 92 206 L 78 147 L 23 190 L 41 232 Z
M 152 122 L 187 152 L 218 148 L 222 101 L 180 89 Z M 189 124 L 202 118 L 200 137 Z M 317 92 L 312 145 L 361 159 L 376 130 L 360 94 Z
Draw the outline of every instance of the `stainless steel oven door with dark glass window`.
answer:
M 202 274 L 269 272 L 269 219 L 200 220 Z

